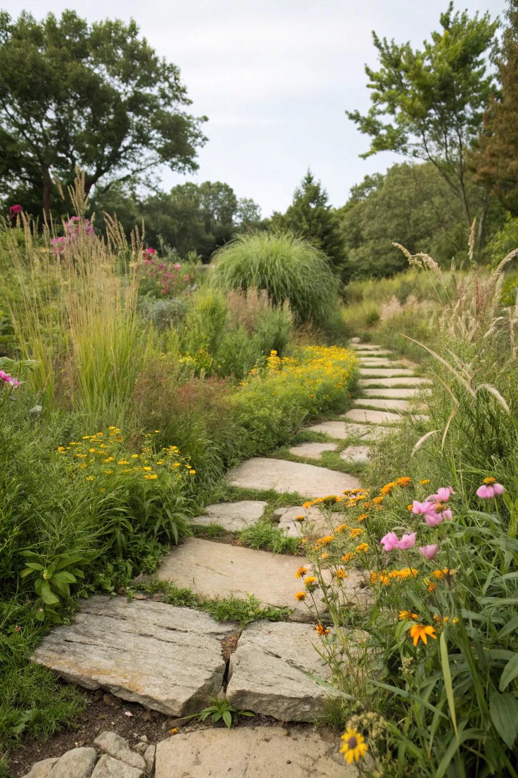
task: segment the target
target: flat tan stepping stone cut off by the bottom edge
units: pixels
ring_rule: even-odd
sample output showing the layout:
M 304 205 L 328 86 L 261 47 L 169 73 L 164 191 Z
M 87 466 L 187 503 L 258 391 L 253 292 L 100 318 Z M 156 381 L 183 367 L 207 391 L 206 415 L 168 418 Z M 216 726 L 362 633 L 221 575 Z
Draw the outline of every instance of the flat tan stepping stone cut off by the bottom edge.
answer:
M 298 727 L 297 727 L 298 729 Z M 209 727 L 158 743 L 155 778 L 358 778 L 339 753 L 339 739 L 313 728 Z

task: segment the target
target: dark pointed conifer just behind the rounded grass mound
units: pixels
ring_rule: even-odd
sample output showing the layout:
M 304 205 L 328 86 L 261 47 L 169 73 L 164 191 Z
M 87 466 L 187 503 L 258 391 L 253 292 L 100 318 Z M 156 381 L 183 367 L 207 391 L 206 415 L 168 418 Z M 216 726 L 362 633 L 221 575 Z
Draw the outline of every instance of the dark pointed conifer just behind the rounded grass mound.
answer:
M 329 204 L 328 193 L 315 180 L 311 170 L 294 191 L 293 202 L 285 214 L 274 212 L 271 219 L 274 230 L 290 230 L 310 240 L 339 268 L 343 261 L 343 237 L 340 221 Z

